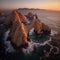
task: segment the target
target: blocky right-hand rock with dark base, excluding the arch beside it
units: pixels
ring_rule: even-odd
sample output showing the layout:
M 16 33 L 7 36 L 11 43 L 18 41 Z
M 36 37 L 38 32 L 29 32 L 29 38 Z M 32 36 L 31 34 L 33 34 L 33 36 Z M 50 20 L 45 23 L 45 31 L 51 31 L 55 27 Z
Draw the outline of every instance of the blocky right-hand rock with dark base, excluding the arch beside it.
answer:
M 34 24 L 34 31 L 38 35 L 45 34 L 45 33 L 50 34 L 51 29 L 47 25 L 42 23 L 39 19 L 36 19 Z

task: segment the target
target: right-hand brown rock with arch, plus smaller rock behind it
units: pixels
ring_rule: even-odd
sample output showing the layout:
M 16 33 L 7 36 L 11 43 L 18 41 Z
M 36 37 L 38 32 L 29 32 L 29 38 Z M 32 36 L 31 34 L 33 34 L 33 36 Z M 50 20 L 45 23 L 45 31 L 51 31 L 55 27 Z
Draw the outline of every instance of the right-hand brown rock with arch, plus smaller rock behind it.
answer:
M 41 22 L 41 20 L 38 19 L 38 16 L 36 14 L 32 14 L 31 12 L 29 12 L 27 17 L 28 20 L 31 22 L 30 25 L 27 25 L 28 31 L 31 28 L 34 28 L 34 32 L 37 35 L 50 34 L 51 29 L 48 27 L 48 25 L 45 25 L 43 22 Z

